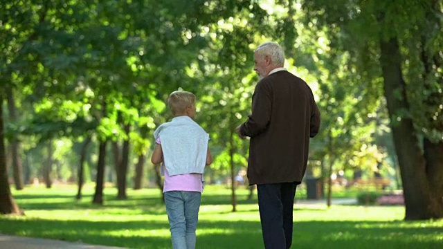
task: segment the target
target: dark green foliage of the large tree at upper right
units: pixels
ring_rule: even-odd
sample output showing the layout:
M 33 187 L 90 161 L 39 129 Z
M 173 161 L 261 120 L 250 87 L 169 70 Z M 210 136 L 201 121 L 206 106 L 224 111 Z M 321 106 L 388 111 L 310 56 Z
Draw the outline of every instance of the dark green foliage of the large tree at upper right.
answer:
M 364 76 L 379 82 L 379 42 L 399 39 L 409 108 L 396 110 L 390 118 L 392 125 L 401 118 L 413 118 L 417 132 L 434 142 L 442 140 L 441 2 L 318 0 L 303 1 L 302 6 L 307 11 L 306 22 L 316 21 L 338 53 L 354 57 L 358 70 L 347 73 L 354 79 Z M 377 101 L 382 94 L 374 93 L 380 89 L 369 86 L 368 93 Z

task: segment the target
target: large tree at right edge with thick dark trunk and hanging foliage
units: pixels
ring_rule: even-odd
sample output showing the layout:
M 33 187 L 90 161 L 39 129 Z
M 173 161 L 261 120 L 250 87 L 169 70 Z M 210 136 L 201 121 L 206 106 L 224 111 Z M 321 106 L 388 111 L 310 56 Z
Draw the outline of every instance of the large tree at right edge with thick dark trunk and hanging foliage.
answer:
M 383 89 L 386 99 L 405 219 L 442 218 L 442 4 L 319 0 L 304 1 L 303 8 L 331 44 L 358 59 L 361 66 L 350 73 L 383 83 L 371 91 Z

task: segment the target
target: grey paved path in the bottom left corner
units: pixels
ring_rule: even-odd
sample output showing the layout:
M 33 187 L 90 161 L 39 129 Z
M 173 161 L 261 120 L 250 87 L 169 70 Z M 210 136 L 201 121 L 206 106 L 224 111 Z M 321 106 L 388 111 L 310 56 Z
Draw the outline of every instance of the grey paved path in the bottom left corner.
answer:
M 87 245 L 80 242 L 57 241 L 0 234 L 0 249 L 123 249 L 112 246 Z

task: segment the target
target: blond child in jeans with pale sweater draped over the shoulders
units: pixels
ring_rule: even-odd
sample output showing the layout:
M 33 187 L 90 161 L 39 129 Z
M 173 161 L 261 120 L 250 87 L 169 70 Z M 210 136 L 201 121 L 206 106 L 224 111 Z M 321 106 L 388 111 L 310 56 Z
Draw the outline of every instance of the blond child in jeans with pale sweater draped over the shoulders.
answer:
M 213 162 L 209 135 L 194 121 L 195 102 L 193 93 L 172 92 L 168 106 L 174 118 L 154 131 L 156 147 L 151 161 L 163 162 L 163 193 L 174 249 L 195 248 L 203 172 Z

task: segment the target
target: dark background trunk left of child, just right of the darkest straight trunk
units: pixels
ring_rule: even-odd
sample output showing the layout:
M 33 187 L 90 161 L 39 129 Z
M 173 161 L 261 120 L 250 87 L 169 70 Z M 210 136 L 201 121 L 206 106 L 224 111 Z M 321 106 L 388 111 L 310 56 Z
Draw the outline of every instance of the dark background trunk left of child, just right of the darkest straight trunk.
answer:
M 125 133 L 128 138 L 123 141 L 122 157 L 117 168 L 117 187 L 118 194 L 117 199 L 125 200 L 126 196 L 126 176 L 127 176 L 127 166 L 129 164 L 129 124 L 125 124 Z

